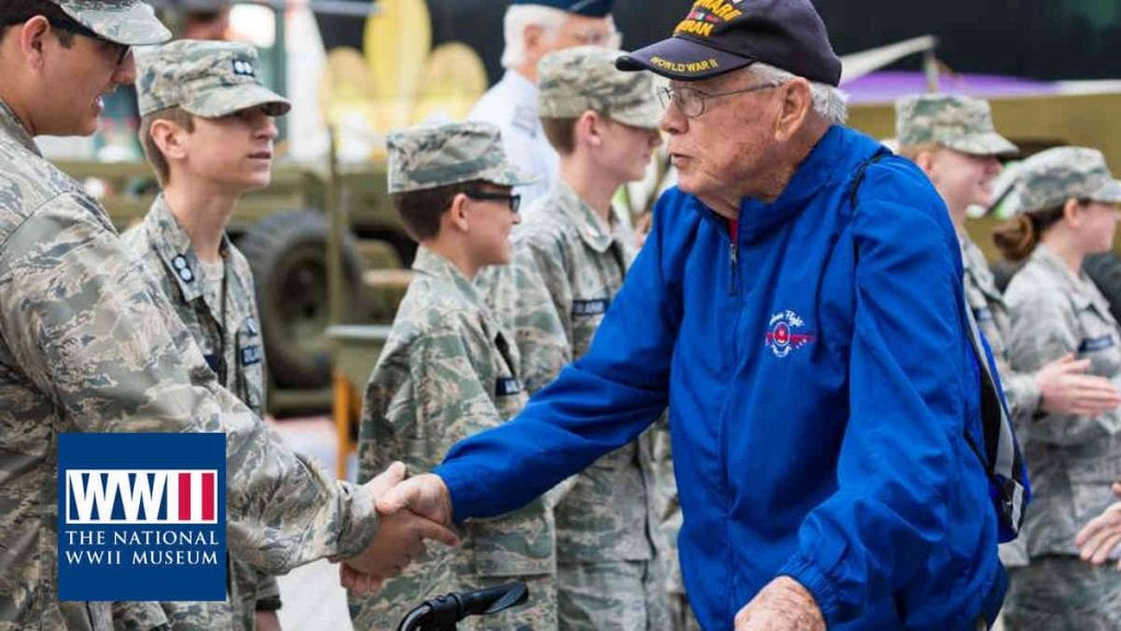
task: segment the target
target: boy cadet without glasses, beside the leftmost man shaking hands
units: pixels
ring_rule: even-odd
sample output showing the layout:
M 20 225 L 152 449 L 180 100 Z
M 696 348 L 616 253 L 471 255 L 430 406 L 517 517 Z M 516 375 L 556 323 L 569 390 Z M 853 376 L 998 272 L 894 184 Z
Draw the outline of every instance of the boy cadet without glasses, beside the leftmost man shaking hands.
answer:
M 288 101 L 261 85 L 245 44 L 183 39 L 142 55 L 140 140 L 163 192 L 121 239 L 148 264 L 219 382 L 265 413 L 260 318 L 249 262 L 225 234 L 245 192 L 268 185 L 274 116 Z M 173 629 L 275 629 L 276 578 L 235 559 L 225 602 L 161 603 Z M 154 629 L 151 603 L 118 603 L 119 628 Z M 256 615 L 254 615 L 256 612 Z

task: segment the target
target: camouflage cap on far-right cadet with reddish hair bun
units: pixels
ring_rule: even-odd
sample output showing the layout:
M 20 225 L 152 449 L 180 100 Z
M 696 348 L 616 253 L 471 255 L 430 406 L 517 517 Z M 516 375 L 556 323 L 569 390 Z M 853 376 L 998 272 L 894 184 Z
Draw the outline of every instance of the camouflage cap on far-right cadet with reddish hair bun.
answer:
M 1105 156 L 1085 147 L 1056 147 L 1020 163 L 1012 185 L 1012 211 L 1056 208 L 1066 200 L 1121 203 L 1121 182 L 1113 179 Z

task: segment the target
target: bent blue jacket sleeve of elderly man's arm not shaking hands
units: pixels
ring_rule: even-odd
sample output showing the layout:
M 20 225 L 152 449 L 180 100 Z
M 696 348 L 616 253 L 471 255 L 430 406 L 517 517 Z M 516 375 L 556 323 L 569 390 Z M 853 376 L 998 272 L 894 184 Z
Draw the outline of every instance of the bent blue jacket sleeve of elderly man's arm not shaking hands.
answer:
M 978 373 L 962 330 L 961 254 L 934 195 L 898 167 L 870 167 L 851 225 L 855 313 L 837 490 L 806 516 L 779 571 L 814 594 L 831 627 L 915 576 L 943 543 L 952 488 L 963 484 L 964 396 Z M 986 515 L 979 506 L 978 522 Z

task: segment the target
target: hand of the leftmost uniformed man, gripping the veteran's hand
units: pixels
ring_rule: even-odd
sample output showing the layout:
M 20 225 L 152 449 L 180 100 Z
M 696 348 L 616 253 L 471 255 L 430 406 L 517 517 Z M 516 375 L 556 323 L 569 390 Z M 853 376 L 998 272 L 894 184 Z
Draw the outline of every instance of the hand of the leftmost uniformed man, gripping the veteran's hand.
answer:
M 425 552 L 425 539 L 448 546 L 460 542 L 455 533 L 443 525 L 450 522 L 435 522 L 410 511 L 386 512 L 381 509 L 381 500 L 391 495 L 396 486 L 404 484 L 404 479 L 405 465 L 393 463 L 367 483 L 367 488 L 378 500 L 378 533 L 365 550 L 343 561 L 339 569 L 342 586 L 355 594 L 378 589 L 382 580 L 399 575 L 414 558 Z

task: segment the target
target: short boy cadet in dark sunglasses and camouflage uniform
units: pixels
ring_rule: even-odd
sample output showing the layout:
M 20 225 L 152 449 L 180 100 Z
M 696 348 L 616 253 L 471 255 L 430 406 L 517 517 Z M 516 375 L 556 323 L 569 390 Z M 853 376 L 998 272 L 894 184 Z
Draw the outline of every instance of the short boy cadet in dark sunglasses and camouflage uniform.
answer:
M 526 396 L 513 340 L 473 280 L 483 266 L 510 262 L 520 201 L 511 188 L 531 179 L 507 163 L 490 124 L 410 129 L 391 135 L 388 148 L 389 193 L 420 248 L 367 386 L 360 479 L 398 459 L 428 470 L 457 440 L 506 422 Z M 437 593 L 518 579 L 529 586 L 529 604 L 475 624 L 556 629 L 555 540 L 545 504 L 464 528 L 462 550 L 433 549 L 380 593 L 352 598 L 354 628 L 390 629 Z

